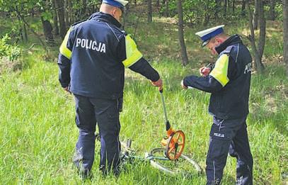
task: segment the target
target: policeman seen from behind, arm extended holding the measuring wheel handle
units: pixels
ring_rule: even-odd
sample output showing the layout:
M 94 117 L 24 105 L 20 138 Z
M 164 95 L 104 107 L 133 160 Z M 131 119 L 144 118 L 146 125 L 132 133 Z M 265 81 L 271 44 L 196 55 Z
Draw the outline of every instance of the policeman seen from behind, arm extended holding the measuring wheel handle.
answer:
M 103 0 L 100 12 L 75 23 L 60 47 L 59 82 L 74 94 L 79 138 L 74 164 L 91 171 L 96 123 L 100 133 L 100 170 L 119 174 L 120 120 L 125 67 L 162 88 L 159 73 L 149 65 L 134 40 L 121 30 L 120 17 L 128 1 Z

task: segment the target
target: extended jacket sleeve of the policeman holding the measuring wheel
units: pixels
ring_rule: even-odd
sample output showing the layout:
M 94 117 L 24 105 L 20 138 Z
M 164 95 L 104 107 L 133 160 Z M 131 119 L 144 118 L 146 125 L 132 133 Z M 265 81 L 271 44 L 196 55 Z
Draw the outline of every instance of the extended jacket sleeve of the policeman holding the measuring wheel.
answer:
M 136 43 L 129 35 L 121 38 L 117 52 L 125 67 L 142 74 L 153 82 L 160 79 L 159 73 L 144 59 L 142 53 L 137 49 Z

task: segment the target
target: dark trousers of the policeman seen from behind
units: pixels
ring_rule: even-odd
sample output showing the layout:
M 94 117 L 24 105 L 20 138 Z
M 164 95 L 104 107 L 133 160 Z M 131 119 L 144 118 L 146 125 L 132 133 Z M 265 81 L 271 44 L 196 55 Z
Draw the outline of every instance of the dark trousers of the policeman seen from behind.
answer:
M 115 99 L 95 99 L 74 94 L 76 103 L 76 125 L 79 138 L 76 143 L 74 164 L 81 172 L 91 171 L 95 155 L 95 131 L 98 124 L 100 134 L 100 170 L 103 173 L 113 169 L 117 174 L 120 164 L 119 142 L 120 102 Z

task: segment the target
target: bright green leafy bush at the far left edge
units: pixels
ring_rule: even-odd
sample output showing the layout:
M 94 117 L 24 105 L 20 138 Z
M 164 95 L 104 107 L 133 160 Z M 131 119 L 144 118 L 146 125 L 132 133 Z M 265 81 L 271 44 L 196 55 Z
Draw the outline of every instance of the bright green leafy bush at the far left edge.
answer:
M 17 60 L 21 56 L 21 49 L 17 45 L 9 45 L 11 38 L 6 34 L 0 39 L 0 58 L 8 57 L 10 61 Z

